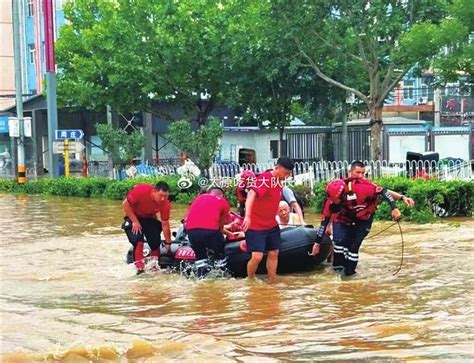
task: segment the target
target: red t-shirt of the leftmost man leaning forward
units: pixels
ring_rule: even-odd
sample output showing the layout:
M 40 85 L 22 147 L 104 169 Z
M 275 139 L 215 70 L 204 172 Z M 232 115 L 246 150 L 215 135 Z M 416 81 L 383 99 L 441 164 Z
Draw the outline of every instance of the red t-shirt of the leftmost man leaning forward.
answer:
M 138 218 L 155 218 L 159 213 L 161 221 L 167 221 L 170 219 L 171 203 L 168 199 L 155 202 L 151 197 L 154 188 L 150 184 L 138 184 L 128 192 L 127 200 Z

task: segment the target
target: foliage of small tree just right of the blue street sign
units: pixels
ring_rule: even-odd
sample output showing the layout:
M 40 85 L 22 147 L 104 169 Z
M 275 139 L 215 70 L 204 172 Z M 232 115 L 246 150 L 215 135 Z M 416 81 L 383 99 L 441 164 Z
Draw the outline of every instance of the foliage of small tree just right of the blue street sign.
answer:
M 116 167 L 124 167 L 139 157 L 145 146 L 145 138 L 140 131 L 128 134 L 109 124 L 97 124 L 96 128 L 102 140 L 102 147 L 110 155 Z

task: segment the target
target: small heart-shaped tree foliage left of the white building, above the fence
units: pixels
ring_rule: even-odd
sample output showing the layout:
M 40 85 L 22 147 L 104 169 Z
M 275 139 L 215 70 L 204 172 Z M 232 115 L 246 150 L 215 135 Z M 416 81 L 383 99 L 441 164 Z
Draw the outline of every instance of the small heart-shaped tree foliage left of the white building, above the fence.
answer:
M 167 138 L 196 163 L 201 169 L 208 169 L 219 152 L 219 140 L 223 128 L 220 121 L 211 117 L 208 123 L 193 131 L 188 121 L 173 122 Z

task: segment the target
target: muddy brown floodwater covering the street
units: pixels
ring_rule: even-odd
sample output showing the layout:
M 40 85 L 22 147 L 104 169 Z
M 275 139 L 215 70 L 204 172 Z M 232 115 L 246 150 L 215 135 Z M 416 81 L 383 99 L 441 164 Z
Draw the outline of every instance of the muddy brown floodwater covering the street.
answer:
M 0 195 L 3 361 L 474 360 L 472 219 L 402 223 L 396 276 L 394 226 L 364 242 L 355 278 L 267 285 L 135 276 L 122 215 L 120 201 Z

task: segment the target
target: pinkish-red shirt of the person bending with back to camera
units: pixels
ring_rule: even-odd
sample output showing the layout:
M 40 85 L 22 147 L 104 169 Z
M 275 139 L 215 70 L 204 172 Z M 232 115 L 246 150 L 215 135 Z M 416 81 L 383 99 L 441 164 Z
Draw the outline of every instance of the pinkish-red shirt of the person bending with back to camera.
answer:
M 229 210 L 229 202 L 225 198 L 202 194 L 189 207 L 186 229 L 219 229 L 220 225 L 226 222 Z

